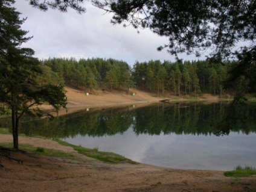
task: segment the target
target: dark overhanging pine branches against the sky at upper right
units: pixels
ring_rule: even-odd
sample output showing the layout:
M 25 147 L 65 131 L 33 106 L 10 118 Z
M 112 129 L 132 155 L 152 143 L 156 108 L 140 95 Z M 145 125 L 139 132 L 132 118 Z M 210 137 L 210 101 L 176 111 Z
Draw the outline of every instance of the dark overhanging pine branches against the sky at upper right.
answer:
M 202 54 L 214 48 L 215 57 L 229 57 L 255 50 L 256 1 L 243 0 L 187 0 L 187 1 L 92 1 L 95 6 L 114 13 L 111 22 L 150 28 L 169 42 L 158 49 L 167 48 L 173 55 Z M 238 42 L 246 41 L 234 51 Z

